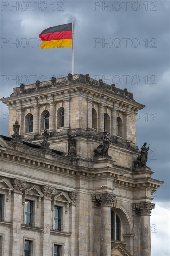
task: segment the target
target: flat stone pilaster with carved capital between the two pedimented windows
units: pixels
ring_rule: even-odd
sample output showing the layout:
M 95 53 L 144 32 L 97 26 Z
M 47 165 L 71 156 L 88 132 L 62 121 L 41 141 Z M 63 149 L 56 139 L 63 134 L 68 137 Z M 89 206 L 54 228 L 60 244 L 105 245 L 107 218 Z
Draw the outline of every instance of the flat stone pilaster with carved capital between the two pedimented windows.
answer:
M 44 232 L 42 232 L 41 238 L 41 256 L 51 255 L 51 216 L 52 216 L 52 209 L 51 209 L 51 196 L 55 193 L 55 188 L 51 186 L 42 186 L 41 191 L 44 194 L 44 198 L 42 200 L 42 208 L 41 208 L 41 225 L 44 227 Z

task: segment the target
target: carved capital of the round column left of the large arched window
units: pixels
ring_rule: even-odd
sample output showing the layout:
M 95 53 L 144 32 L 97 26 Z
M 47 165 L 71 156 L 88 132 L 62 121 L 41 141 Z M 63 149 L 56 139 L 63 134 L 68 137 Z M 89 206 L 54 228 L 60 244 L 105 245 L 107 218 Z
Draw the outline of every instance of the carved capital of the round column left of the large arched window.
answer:
M 116 195 L 111 193 L 100 193 L 95 195 L 95 199 L 99 202 L 101 206 L 112 206 L 115 200 Z M 94 201 L 94 197 L 92 197 L 92 201 Z

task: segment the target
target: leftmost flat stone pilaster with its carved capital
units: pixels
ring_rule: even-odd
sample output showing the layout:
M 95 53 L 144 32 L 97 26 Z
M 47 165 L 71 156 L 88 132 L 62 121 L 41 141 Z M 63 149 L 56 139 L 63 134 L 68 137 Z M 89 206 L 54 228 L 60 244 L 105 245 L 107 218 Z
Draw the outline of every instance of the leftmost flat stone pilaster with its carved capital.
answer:
M 20 256 L 21 241 L 21 223 L 22 223 L 22 189 L 26 185 L 26 181 L 12 179 L 11 184 L 14 187 L 12 192 L 12 205 L 11 205 L 11 221 L 13 222 L 13 227 L 11 228 L 11 246 L 10 255 Z M 22 234 L 23 236 L 23 234 Z

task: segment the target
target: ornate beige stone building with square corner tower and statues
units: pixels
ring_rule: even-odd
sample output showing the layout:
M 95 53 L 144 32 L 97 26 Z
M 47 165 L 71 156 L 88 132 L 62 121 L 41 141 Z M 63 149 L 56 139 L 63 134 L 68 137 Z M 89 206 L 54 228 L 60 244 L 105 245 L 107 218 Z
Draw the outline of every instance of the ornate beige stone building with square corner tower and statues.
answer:
M 0 255 L 151 256 L 163 182 L 136 146 L 145 106 L 88 74 L 21 84 L 2 101 Z

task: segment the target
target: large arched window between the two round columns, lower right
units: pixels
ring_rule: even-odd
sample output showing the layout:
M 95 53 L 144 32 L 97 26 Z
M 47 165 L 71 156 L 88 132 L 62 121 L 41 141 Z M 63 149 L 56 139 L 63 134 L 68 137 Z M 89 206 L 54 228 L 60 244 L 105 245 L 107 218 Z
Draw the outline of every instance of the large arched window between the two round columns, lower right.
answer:
M 120 219 L 114 211 L 111 211 L 111 239 L 120 241 Z

